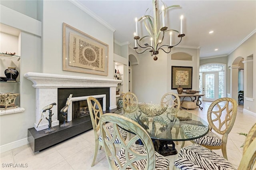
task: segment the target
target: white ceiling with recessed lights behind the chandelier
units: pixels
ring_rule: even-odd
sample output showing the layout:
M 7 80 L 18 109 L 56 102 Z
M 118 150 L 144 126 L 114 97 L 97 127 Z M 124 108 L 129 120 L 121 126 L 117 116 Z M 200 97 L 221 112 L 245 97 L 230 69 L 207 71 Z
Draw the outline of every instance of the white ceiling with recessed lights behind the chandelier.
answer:
M 180 31 L 180 16 L 184 16 L 182 42 L 177 47 L 200 49 L 200 59 L 230 54 L 256 32 L 255 0 L 162 0 L 166 6 L 180 5 L 166 12 L 168 29 Z M 161 10 L 162 2 L 158 1 Z M 151 0 L 77 0 L 116 31 L 114 40 L 130 42 L 134 47 L 135 17 L 153 16 Z M 161 20 L 161 16 L 159 18 Z M 162 20 L 161 20 L 162 21 Z M 138 36 L 148 35 L 143 22 L 138 23 Z M 214 33 L 209 34 L 213 30 Z M 172 43 L 179 41 L 178 34 Z M 170 37 L 164 42 L 168 45 Z M 150 44 L 150 39 L 147 42 Z M 218 49 L 215 51 L 214 49 Z

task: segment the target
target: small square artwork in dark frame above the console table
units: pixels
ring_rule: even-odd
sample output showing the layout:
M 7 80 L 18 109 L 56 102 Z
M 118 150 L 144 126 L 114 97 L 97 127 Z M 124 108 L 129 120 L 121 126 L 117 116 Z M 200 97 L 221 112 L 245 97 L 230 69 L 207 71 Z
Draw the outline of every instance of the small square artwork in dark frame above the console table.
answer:
M 172 89 L 192 89 L 193 67 L 172 66 Z

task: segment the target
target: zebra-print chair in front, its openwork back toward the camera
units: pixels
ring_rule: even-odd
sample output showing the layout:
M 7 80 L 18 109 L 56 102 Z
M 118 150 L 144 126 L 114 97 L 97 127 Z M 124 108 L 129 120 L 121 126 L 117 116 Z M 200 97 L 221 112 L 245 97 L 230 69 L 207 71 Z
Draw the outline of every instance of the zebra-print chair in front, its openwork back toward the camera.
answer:
M 106 123 L 114 124 L 114 136 L 110 136 Z M 120 128 L 125 128 L 135 135 L 130 140 L 124 140 L 120 134 Z M 154 150 L 152 140 L 146 130 L 138 123 L 122 115 L 106 113 L 100 118 L 100 131 L 102 133 L 103 145 L 108 160 L 109 169 L 133 169 L 133 170 L 167 170 L 169 160 Z M 121 142 L 120 150 L 116 150 L 114 140 L 118 138 Z M 135 144 L 140 139 L 144 145 Z

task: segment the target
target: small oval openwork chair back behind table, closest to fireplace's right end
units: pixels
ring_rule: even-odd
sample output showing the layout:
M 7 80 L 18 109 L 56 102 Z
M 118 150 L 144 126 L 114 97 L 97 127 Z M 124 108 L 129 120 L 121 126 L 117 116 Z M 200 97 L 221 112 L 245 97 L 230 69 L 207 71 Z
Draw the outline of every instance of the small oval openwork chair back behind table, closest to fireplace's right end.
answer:
M 134 112 L 138 108 L 138 99 L 134 93 L 125 93 L 123 96 L 123 109 L 125 112 Z

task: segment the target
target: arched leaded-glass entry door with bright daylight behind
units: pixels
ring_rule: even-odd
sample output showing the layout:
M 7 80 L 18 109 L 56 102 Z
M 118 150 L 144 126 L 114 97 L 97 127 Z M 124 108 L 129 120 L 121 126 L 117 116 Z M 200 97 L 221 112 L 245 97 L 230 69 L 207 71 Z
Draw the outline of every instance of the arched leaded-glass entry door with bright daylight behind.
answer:
M 199 91 L 209 100 L 225 97 L 224 64 L 210 63 L 199 67 Z

